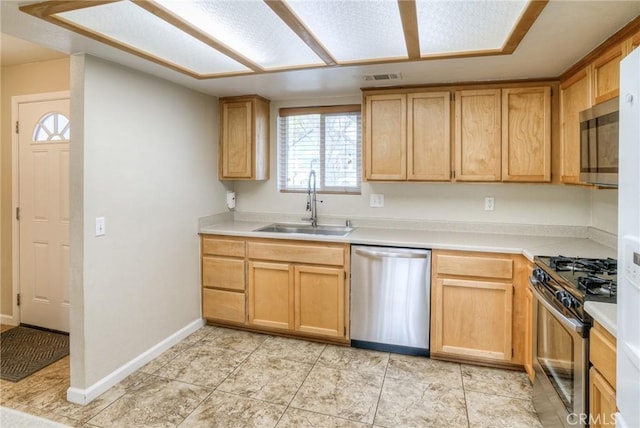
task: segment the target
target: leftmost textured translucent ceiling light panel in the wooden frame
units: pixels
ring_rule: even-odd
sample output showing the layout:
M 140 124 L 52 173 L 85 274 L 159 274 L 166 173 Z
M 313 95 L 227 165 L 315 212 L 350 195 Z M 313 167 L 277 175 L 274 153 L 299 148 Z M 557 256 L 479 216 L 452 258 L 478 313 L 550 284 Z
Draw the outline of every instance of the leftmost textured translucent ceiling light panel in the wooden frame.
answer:
M 128 1 L 56 16 L 198 74 L 249 71 L 244 65 Z

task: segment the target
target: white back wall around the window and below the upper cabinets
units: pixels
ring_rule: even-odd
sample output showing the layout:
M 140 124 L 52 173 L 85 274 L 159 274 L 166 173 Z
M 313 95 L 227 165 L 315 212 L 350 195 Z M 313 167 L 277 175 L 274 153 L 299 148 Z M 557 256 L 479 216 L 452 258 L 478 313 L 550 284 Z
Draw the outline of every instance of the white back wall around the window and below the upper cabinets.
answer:
M 306 215 L 305 194 L 277 189 L 277 116 L 281 107 L 360 103 L 360 97 L 271 103 L 271 178 L 237 182 L 237 211 Z M 370 208 L 369 195 L 383 193 L 384 208 Z M 495 211 L 484 210 L 485 196 Z M 322 195 L 318 216 L 352 216 L 459 222 L 589 226 L 589 190 L 577 186 L 507 183 L 363 183 L 361 195 Z

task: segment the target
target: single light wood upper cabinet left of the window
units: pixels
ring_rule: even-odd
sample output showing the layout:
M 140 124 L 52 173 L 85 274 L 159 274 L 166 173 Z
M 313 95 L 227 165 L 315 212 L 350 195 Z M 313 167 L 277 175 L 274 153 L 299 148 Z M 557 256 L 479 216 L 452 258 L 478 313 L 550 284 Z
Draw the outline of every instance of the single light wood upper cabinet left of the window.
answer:
M 218 177 L 269 178 L 269 101 L 258 96 L 220 99 Z

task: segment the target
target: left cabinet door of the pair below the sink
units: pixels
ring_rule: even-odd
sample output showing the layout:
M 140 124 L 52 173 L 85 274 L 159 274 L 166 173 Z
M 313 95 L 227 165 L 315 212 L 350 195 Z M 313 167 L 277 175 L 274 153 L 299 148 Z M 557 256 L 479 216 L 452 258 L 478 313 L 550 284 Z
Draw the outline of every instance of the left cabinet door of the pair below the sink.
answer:
M 293 329 L 293 267 L 249 262 L 249 324 Z

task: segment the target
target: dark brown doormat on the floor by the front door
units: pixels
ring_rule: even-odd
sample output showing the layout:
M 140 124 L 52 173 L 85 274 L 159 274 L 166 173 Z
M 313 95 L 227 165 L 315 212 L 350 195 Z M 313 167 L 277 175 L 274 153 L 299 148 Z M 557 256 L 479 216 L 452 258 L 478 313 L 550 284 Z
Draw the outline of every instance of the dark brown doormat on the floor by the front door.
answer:
M 0 378 L 18 382 L 69 355 L 69 335 L 28 327 L 0 333 Z

